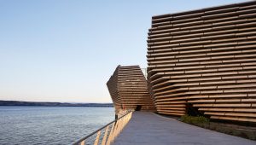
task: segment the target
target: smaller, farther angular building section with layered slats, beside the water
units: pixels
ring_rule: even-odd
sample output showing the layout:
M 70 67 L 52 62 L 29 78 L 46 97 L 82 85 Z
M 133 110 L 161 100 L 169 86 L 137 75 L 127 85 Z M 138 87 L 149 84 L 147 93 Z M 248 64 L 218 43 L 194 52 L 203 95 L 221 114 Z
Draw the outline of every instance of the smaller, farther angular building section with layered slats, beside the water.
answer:
M 139 66 L 117 67 L 107 85 L 117 113 L 120 109 L 155 110 Z

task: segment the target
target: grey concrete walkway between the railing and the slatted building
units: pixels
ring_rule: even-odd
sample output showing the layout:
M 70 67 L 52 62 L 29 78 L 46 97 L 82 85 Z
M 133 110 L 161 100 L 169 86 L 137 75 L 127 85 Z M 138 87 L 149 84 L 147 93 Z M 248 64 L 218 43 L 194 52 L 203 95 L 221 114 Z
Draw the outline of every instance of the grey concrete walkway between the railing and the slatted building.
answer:
M 113 144 L 256 145 L 256 142 L 184 124 L 154 113 L 135 112 Z

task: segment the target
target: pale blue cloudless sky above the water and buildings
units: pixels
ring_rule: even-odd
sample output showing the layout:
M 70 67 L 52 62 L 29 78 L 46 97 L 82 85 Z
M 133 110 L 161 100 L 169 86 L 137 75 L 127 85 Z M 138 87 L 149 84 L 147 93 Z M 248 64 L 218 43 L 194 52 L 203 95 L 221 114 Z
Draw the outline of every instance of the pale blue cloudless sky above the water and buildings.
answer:
M 151 18 L 245 0 L 0 0 L 0 100 L 112 102 L 118 66 L 147 67 Z

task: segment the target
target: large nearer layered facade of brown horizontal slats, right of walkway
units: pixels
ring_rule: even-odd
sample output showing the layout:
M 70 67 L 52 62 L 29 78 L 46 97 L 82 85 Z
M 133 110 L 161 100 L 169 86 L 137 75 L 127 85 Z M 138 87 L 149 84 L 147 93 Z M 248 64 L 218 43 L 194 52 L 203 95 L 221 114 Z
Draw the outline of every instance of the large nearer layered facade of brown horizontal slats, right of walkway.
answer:
M 147 57 L 159 113 L 256 122 L 255 1 L 154 16 Z

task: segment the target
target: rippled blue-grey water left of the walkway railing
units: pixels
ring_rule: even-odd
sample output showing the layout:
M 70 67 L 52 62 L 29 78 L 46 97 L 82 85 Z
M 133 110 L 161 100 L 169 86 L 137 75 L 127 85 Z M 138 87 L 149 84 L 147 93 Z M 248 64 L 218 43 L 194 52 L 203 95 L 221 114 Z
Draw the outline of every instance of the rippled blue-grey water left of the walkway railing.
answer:
M 0 107 L 0 144 L 71 144 L 113 119 L 113 107 Z

